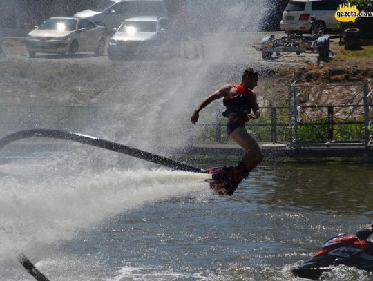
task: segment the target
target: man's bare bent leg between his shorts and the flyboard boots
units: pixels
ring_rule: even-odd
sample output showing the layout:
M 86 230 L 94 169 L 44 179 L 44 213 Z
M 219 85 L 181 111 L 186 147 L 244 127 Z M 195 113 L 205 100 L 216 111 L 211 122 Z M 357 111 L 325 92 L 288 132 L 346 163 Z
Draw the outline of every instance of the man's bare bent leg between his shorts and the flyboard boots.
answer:
M 263 159 L 262 151 L 255 139 L 247 133 L 247 130 L 243 126 L 236 128 L 229 137 L 246 151 L 242 157 L 242 162 L 245 164 L 247 171 L 251 171 L 258 166 Z

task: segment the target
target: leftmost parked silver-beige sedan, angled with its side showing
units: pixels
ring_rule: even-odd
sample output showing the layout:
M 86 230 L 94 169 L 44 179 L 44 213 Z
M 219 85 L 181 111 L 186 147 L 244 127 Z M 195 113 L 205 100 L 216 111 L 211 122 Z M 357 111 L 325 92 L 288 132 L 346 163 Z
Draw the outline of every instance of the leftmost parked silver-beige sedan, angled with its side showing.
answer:
M 73 55 L 86 51 L 93 51 L 99 56 L 104 54 L 105 43 L 104 26 L 75 17 L 51 17 L 26 37 L 30 57 L 35 57 L 37 52 Z

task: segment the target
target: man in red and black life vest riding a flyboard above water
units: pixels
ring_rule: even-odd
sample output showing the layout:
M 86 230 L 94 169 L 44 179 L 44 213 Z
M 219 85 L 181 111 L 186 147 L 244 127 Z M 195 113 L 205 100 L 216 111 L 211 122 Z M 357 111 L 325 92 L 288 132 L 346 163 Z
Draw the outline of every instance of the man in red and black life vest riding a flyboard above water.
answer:
M 195 108 L 191 116 L 191 122 L 195 124 L 199 118 L 199 112 L 216 99 L 223 98 L 226 110 L 222 113 L 229 119 L 227 134 L 239 146 L 245 150 L 241 162 L 237 166 L 222 168 L 209 168 L 208 173 L 213 174 L 210 188 L 219 190 L 220 193 L 232 195 L 238 184 L 249 175 L 262 161 L 263 155 L 258 143 L 247 130 L 245 124 L 249 119 L 260 117 L 259 106 L 253 89 L 258 82 L 258 73 L 252 68 L 247 68 L 242 75 L 240 84 L 228 84 L 213 92 Z

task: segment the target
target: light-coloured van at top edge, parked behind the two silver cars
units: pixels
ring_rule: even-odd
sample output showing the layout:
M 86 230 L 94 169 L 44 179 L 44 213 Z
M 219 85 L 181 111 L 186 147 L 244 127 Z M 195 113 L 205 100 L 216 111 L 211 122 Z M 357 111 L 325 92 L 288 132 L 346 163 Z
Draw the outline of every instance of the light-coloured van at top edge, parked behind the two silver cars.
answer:
M 167 10 L 163 0 L 98 0 L 95 7 L 78 12 L 74 17 L 103 23 L 107 30 L 112 30 L 129 17 L 166 17 L 166 15 Z

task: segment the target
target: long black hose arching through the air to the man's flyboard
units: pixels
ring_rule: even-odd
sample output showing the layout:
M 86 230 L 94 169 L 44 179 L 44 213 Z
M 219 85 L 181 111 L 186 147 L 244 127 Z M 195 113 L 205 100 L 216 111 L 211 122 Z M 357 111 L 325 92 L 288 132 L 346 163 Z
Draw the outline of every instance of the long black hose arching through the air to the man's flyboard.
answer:
M 118 144 L 116 142 L 110 142 L 104 139 L 98 139 L 97 137 L 90 137 L 89 135 L 82 135 L 78 133 L 66 132 L 63 130 L 50 130 L 50 129 L 32 129 L 32 130 L 20 130 L 18 132 L 12 133 L 0 139 L 0 149 L 15 142 L 19 139 L 26 139 L 30 137 L 49 137 L 54 139 L 66 139 L 68 141 L 79 142 L 81 144 L 88 144 L 90 146 L 97 146 L 99 148 L 108 149 L 109 151 L 115 151 L 117 153 L 122 153 L 143 159 L 155 164 L 160 164 L 175 170 L 182 170 L 187 172 L 195 173 L 207 173 L 207 171 L 190 166 L 188 164 L 180 163 L 175 160 L 149 153 L 147 151 L 142 151 L 131 146 L 125 146 L 124 144 Z

